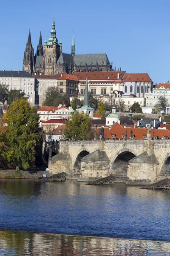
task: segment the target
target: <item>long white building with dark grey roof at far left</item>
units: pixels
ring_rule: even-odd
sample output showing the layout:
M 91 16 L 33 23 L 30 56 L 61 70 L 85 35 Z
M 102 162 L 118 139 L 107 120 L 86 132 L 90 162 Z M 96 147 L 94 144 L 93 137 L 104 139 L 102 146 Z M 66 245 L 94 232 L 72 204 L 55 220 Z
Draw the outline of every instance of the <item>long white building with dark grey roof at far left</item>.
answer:
M 35 78 L 26 71 L 0 71 L 0 84 L 8 90 L 21 90 L 31 106 L 35 104 Z

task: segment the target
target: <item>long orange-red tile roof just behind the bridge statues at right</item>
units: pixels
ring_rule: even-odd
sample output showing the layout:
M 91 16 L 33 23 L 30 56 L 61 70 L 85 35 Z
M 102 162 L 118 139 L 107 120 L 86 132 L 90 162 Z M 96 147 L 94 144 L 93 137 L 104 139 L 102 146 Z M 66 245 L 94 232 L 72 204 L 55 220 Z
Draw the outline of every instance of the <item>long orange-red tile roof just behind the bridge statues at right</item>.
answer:
M 134 139 L 136 140 L 143 140 L 143 136 L 147 136 L 147 128 L 123 128 L 121 125 L 119 125 L 118 122 L 116 122 L 115 125 L 112 125 L 112 128 L 110 130 L 107 129 L 107 132 L 104 129 L 105 134 L 105 140 L 112 139 L 111 135 L 115 135 L 115 139 L 121 139 L 122 135 L 126 135 L 127 131 L 127 140 L 130 138 L 130 131 L 132 130 Z M 161 130 L 161 129 L 151 129 L 151 137 L 158 137 L 161 139 L 162 137 L 170 137 L 170 131 L 168 130 Z

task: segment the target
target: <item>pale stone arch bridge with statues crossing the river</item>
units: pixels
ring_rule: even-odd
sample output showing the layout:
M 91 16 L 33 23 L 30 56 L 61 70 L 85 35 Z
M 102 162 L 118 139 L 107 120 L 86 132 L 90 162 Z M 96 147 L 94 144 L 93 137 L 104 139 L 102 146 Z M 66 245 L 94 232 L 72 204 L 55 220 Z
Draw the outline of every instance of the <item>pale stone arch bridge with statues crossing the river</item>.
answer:
M 170 140 L 60 141 L 59 154 L 49 160 L 50 172 L 106 177 L 127 183 L 150 183 L 170 177 Z

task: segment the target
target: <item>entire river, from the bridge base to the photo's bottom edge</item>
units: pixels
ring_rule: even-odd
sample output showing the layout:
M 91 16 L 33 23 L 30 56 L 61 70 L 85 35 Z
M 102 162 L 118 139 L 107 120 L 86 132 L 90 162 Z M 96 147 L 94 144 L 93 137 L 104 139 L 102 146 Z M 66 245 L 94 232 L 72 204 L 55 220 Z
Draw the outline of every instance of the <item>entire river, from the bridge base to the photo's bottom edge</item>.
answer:
M 169 224 L 170 190 L 0 180 L 0 256 L 170 255 Z

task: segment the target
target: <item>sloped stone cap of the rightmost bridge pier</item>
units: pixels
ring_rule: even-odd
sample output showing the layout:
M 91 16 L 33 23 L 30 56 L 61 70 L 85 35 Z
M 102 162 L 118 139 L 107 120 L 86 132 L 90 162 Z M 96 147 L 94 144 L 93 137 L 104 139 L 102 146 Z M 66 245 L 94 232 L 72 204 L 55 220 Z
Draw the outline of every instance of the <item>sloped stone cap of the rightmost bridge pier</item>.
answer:
M 134 157 L 133 159 L 129 160 L 128 163 L 155 163 L 159 164 L 155 154 L 152 154 L 149 156 L 147 154 L 147 151 L 144 151 L 144 153 L 140 154 L 137 157 Z

